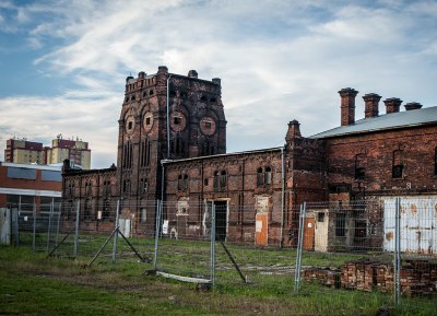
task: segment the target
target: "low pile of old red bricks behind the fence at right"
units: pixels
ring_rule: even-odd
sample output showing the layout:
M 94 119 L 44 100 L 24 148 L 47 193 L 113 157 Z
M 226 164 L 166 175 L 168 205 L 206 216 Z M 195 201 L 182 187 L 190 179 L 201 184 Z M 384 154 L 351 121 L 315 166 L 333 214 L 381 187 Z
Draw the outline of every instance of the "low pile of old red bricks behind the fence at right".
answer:
M 392 265 L 370 260 L 350 261 L 341 269 L 310 268 L 304 271 L 304 280 L 317 280 L 330 288 L 378 290 L 392 292 L 394 282 Z M 437 293 L 437 264 L 414 260 L 404 265 L 400 271 L 401 291 L 405 295 L 426 295 Z

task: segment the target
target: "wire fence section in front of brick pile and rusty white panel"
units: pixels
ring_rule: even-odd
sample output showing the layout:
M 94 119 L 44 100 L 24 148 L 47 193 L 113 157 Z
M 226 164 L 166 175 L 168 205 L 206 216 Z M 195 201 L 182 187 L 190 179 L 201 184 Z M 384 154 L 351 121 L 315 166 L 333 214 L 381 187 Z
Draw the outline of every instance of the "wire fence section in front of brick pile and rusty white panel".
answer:
M 334 295 L 387 293 L 387 305 L 413 304 L 414 297 L 435 305 L 436 210 L 435 198 L 305 203 L 295 290 L 318 283 Z

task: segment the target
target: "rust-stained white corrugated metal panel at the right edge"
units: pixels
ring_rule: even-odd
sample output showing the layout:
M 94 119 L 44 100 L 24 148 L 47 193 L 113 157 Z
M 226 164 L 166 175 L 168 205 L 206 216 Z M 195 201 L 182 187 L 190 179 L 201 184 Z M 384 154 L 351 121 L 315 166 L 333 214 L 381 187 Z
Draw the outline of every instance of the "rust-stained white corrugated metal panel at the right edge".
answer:
M 394 250 L 394 198 L 385 198 L 383 248 Z M 401 251 L 437 254 L 437 197 L 401 198 Z

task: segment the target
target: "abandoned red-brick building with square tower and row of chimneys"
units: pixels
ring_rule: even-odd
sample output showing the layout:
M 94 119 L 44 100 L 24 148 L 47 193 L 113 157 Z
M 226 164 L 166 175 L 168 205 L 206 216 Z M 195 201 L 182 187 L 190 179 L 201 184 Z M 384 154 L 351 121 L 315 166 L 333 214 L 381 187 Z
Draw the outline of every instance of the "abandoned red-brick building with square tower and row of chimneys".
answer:
M 199 225 L 216 206 L 221 238 L 293 243 L 298 206 L 393 196 L 437 200 L 437 107 L 400 98 L 363 96 L 365 118 L 355 121 L 357 91 L 343 89 L 341 126 L 303 137 L 292 120 L 283 147 L 226 153 L 221 80 L 169 73 L 128 77 L 121 107 L 117 166 L 70 171 L 62 196 L 66 216 L 81 200 L 83 225 L 114 227 L 116 201 L 132 234 L 152 234 L 156 200 L 165 201 L 165 234 L 202 236 Z M 378 213 L 378 216 L 383 216 Z M 359 229 L 370 234 L 371 221 Z M 380 241 L 379 241 L 380 243 Z

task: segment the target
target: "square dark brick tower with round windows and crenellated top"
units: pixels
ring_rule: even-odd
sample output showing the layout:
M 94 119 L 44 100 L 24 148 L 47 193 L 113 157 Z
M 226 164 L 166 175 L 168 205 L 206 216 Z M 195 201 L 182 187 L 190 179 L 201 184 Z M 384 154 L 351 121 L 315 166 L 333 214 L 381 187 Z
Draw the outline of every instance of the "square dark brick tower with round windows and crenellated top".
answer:
M 226 120 L 221 80 L 140 72 L 126 79 L 118 133 L 117 179 L 120 197 L 162 197 L 162 161 L 226 152 Z M 168 100 L 168 102 L 167 102 Z

